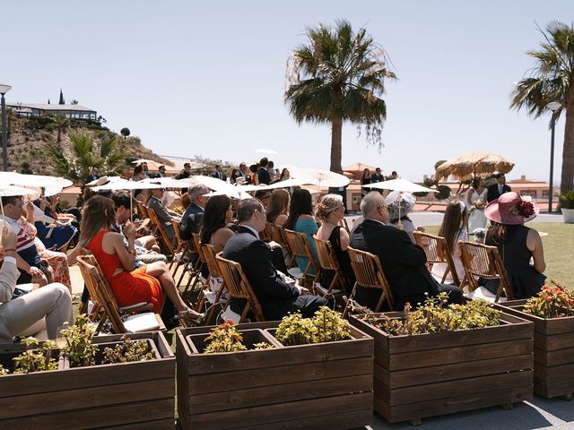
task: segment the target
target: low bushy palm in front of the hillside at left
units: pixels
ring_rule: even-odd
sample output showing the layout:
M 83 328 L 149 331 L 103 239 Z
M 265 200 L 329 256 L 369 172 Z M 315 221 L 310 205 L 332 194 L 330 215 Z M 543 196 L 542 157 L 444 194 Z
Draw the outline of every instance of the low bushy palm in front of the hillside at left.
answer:
M 103 133 L 96 140 L 91 132 L 74 131 L 69 144 L 48 142 L 44 146 L 58 175 L 82 182 L 91 168 L 108 175 L 118 175 L 126 169 L 126 154 L 121 150 L 117 134 Z

